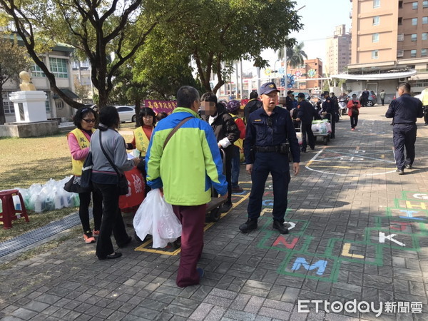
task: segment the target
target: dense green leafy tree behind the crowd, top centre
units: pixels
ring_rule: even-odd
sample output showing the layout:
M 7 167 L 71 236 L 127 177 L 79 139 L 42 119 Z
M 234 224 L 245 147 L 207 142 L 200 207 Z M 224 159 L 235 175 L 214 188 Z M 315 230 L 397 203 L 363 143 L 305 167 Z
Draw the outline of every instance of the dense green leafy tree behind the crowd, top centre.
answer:
M 188 1 L 190 2 L 190 0 Z M 176 51 L 192 56 L 205 91 L 216 93 L 233 66 L 227 61 L 254 59 L 255 66 L 266 66 L 264 49 L 292 46 L 291 31 L 301 29 L 299 16 L 289 0 L 191 0 L 191 19 L 173 26 L 161 24 Z M 177 21 L 176 21 L 177 22 Z M 211 74 L 218 83 L 210 87 Z

